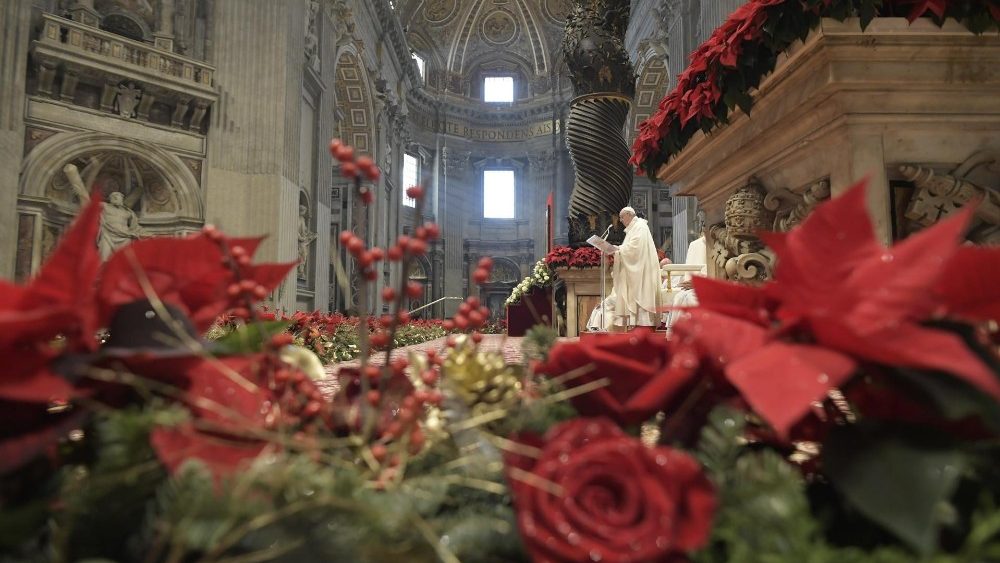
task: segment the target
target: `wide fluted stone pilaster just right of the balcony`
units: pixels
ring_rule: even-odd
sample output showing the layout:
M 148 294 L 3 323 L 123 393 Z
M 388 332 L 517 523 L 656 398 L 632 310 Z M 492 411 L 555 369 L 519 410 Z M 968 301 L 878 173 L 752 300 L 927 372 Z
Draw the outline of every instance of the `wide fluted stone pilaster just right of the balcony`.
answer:
M 206 219 L 233 235 L 267 235 L 262 261 L 298 258 L 302 20 L 293 4 L 216 0 L 212 17 L 221 96 L 208 137 Z M 274 304 L 295 308 L 294 276 Z

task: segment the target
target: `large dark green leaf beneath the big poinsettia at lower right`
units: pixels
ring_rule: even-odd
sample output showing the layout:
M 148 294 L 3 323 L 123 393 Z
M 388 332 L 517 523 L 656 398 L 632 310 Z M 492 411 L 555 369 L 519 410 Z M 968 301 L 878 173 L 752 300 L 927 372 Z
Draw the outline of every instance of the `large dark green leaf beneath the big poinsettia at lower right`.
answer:
M 966 463 L 949 439 L 869 420 L 834 428 L 823 452 L 827 476 L 855 508 L 921 554 L 934 551 L 938 511 Z

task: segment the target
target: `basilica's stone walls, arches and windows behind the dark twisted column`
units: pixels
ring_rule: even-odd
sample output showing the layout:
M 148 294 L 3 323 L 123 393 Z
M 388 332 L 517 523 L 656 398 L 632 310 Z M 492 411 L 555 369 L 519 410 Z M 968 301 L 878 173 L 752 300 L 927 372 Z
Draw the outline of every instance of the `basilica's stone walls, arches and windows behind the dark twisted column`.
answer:
M 205 224 L 267 235 L 262 257 L 301 260 L 271 296 L 275 307 L 350 311 L 356 281 L 343 280 L 356 276 L 337 234 L 357 224 L 354 191 L 327 152 L 340 138 L 383 171 L 372 186 L 372 244 L 410 233 L 405 189 L 428 189 L 425 214 L 443 237 L 405 273 L 426 282 L 411 306 L 468 295 L 476 262 L 491 256 L 483 298 L 502 315 L 548 245 L 568 242 L 574 168 L 565 131 L 575 93 L 561 45 L 572 4 L 4 2 L 0 274 L 24 280 L 37 271 L 74 217 L 72 166 L 106 195 L 124 196 L 131 217 L 122 240 Z M 738 4 L 632 2 L 626 142 L 685 53 Z M 682 261 L 697 236 L 694 199 L 628 180 L 657 245 Z M 394 268 L 385 266 L 386 283 L 404 275 Z M 383 305 L 373 296 L 368 307 Z M 454 306 L 444 300 L 429 312 L 441 318 Z

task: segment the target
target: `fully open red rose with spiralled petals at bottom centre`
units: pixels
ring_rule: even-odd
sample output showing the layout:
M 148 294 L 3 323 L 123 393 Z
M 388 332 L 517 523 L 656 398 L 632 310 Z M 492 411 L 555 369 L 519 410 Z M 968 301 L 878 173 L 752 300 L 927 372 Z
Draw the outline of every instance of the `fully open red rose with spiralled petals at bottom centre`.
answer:
M 508 460 L 532 560 L 673 561 L 708 540 L 715 489 L 686 453 L 648 448 L 605 418 L 560 424 L 541 449 Z

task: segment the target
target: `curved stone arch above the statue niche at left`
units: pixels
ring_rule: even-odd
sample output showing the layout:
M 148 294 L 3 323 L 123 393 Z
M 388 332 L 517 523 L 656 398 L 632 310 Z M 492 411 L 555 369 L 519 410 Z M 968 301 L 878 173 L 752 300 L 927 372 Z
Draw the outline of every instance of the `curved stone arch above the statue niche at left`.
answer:
M 53 183 L 58 184 L 63 175 L 63 166 L 91 156 L 125 159 L 148 166 L 159 176 L 162 184 L 150 188 L 161 192 L 162 197 L 174 205 L 169 209 L 169 217 L 157 217 L 151 211 L 146 219 L 155 223 L 180 222 L 188 226 L 198 226 L 204 222 L 201 188 L 194 174 L 180 158 L 152 143 L 104 133 L 58 133 L 44 140 L 24 159 L 18 192 L 36 201 L 48 200 L 60 207 L 59 202 L 51 197 L 50 189 Z M 159 196 L 151 193 L 150 197 Z

